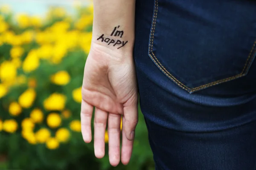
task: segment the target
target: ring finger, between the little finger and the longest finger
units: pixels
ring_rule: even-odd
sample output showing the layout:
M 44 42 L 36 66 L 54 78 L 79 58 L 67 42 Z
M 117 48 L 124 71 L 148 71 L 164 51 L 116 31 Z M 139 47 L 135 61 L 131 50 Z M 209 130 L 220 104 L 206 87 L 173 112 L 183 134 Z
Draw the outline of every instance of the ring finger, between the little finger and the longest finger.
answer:
M 95 108 L 94 113 L 94 153 L 97 158 L 105 155 L 105 130 L 108 113 Z

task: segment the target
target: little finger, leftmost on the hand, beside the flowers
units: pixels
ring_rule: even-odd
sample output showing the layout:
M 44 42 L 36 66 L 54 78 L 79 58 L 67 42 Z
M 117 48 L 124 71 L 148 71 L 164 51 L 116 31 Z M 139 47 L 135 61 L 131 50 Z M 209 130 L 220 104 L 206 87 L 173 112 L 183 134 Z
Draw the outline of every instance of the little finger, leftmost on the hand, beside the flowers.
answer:
M 84 142 L 90 143 L 92 140 L 91 119 L 93 106 L 82 100 L 81 102 L 81 132 Z

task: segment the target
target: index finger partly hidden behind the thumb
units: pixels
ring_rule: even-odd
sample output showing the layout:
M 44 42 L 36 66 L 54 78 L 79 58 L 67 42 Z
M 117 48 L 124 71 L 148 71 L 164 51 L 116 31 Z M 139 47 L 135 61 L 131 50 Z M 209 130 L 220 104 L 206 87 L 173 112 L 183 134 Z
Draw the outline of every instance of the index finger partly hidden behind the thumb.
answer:
M 122 122 L 125 122 L 125 118 L 122 118 Z M 129 140 L 125 136 L 125 131 L 122 130 L 122 151 L 121 151 L 121 161 L 122 164 L 127 165 L 131 159 L 133 140 Z

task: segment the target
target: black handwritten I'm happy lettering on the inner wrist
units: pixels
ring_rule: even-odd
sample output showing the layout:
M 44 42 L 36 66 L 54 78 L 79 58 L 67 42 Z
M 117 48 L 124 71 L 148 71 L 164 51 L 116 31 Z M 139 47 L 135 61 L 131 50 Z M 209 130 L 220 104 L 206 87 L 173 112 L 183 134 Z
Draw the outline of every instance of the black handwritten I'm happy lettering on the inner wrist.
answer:
M 122 38 L 123 34 L 124 34 L 124 31 L 119 31 L 118 28 L 120 26 L 117 26 L 113 29 L 112 33 L 110 34 L 111 37 L 120 37 Z M 114 47 L 118 47 L 117 49 L 119 48 L 122 48 L 123 46 L 125 46 L 127 44 L 128 41 L 122 41 L 122 40 L 114 40 L 114 39 L 111 39 L 111 38 L 105 38 L 104 37 L 104 34 L 102 34 L 99 38 L 97 38 L 98 41 L 101 41 L 101 42 L 105 42 L 107 43 L 108 45 L 113 45 Z

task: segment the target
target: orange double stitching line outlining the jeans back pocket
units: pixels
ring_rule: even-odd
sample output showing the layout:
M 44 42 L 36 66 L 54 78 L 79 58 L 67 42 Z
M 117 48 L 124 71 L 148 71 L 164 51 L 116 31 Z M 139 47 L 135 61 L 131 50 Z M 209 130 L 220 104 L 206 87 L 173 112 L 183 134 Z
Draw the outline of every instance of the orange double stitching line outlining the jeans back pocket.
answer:
M 233 80 L 233 79 L 236 79 L 236 78 L 239 78 L 239 77 L 242 77 L 245 75 L 244 72 L 247 72 L 249 67 L 247 67 L 248 65 L 250 66 L 252 60 L 253 60 L 253 56 L 254 54 L 256 53 L 256 50 L 254 52 L 254 54 L 252 55 L 252 52 L 255 48 L 255 45 L 256 45 L 256 41 L 253 43 L 253 47 L 250 51 L 250 54 L 248 55 L 247 57 L 247 60 L 245 62 L 245 65 L 244 65 L 244 68 L 242 70 L 242 72 L 236 76 L 233 76 L 233 77 L 228 77 L 228 78 L 225 78 L 225 79 L 221 79 L 221 80 L 217 80 L 215 82 L 210 82 L 210 83 L 207 83 L 205 85 L 201 85 L 201 86 L 198 86 L 196 88 L 189 88 L 187 87 L 186 85 L 184 85 L 183 83 L 181 83 L 179 80 L 177 80 L 172 74 L 169 73 L 169 71 L 166 70 L 166 68 L 159 62 L 159 60 L 157 59 L 157 57 L 154 55 L 153 53 L 153 44 L 154 44 L 154 31 L 155 31 L 155 26 L 156 26 L 156 20 L 157 20 L 157 11 L 158 11 L 158 0 L 155 0 L 155 8 L 154 8 L 154 16 L 153 16 L 153 25 L 152 25 L 152 28 L 151 28 L 151 37 L 150 37 L 150 45 L 148 47 L 148 50 L 149 50 L 149 56 L 151 57 L 151 59 L 153 59 L 153 61 L 157 64 L 158 68 L 160 68 L 170 79 L 172 79 L 174 82 L 176 82 L 180 87 L 182 87 L 183 89 L 185 89 L 186 91 L 189 91 L 189 92 L 194 92 L 194 91 L 198 91 L 198 90 L 201 90 L 203 88 L 207 88 L 207 87 L 210 87 L 210 86 L 213 86 L 213 85 L 217 85 L 219 83 L 222 83 L 222 82 L 227 82 L 227 81 L 230 81 L 230 80 Z M 153 54 L 154 58 L 151 56 L 151 54 Z M 156 61 L 156 60 L 157 61 Z M 248 61 L 250 59 L 250 62 L 248 64 Z M 247 68 L 247 69 L 246 69 Z M 246 71 L 245 71 L 246 69 Z

